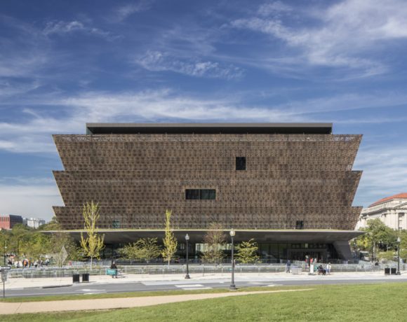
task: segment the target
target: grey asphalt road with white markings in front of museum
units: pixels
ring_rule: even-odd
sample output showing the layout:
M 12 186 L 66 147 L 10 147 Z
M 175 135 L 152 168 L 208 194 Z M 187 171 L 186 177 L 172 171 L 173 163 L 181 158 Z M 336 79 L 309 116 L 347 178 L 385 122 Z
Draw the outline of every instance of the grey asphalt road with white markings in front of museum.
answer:
M 317 284 L 345 284 L 345 283 L 394 283 L 407 281 L 406 279 L 392 279 L 388 276 L 363 279 L 335 279 L 331 276 L 312 276 L 310 279 L 246 279 L 235 281 L 237 288 L 250 286 L 304 286 Z M 145 282 L 115 282 L 111 283 L 77 283 L 72 286 L 55 288 L 24 288 L 6 290 L 6 297 L 18 296 L 44 296 L 44 295 L 68 295 L 83 294 L 84 298 L 89 294 L 143 292 L 154 290 L 199 290 L 208 288 L 228 288 L 229 279 L 206 279 L 206 280 L 182 280 L 182 281 L 145 281 Z

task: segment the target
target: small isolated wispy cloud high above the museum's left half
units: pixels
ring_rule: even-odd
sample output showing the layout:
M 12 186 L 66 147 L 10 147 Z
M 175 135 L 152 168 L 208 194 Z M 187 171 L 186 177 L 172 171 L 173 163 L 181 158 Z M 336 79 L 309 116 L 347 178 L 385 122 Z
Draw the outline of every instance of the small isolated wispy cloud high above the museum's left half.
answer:
M 243 75 L 243 70 L 236 66 L 222 66 L 218 62 L 200 59 L 180 60 L 159 51 L 148 51 L 135 59 L 135 63 L 149 71 L 174 71 L 196 77 L 235 79 Z

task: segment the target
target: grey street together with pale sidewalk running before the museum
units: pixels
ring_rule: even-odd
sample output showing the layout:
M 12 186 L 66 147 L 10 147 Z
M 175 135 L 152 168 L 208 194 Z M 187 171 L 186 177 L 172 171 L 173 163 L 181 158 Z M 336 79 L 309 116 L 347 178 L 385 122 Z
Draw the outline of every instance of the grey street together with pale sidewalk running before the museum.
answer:
M 89 294 L 99 293 L 123 293 L 123 292 L 145 292 L 156 290 L 201 290 L 210 288 L 228 288 L 230 279 L 225 276 L 206 276 L 206 279 L 192 277 L 192 279 L 178 279 L 176 281 L 131 281 L 126 277 L 123 279 L 112 279 L 104 281 L 92 281 L 89 283 L 74 283 L 69 286 L 47 287 L 47 288 L 12 288 L 6 290 L 7 297 L 18 296 L 44 296 L 44 295 L 69 295 L 83 294 L 84 297 Z M 407 281 L 406 275 L 385 276 L 372 274 L 338 274 L 329 276 L 309 276 L 291 274 L 275 274 L 272 276 L 238 276 L 235 278 L 237 288 L 253 286 L 309 286 L 315 284 L 346 284 L 346 283 L 394 283 Z

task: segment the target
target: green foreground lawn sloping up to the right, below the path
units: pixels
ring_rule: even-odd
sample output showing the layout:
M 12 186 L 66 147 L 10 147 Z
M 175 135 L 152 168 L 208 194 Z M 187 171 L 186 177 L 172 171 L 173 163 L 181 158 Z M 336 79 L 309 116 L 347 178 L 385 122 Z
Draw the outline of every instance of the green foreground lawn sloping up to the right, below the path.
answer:
M 312 286 L 110 311 L 0 316 L 7 321 L 405 321 L 407 283 Z M 264 289 L 264 288 L 262 288 Z

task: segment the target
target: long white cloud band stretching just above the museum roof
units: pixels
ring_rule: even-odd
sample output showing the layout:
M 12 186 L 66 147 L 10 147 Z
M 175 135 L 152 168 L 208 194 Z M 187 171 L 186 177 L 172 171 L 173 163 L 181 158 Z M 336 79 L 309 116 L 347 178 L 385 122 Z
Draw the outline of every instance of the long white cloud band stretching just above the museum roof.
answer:
M 244 95 L 244 94 L 242 94 Z M 0 123 L 0 150 L 14 153 L 55 154 L 51 134 L 80 134 L 85 123 L 103 122 L 314 122 L 321 113 L 371 109 L 406 104 L 403 94 L 347 94 L 337 97 L 293 101 L 275 106 L 251 106 L 244 97 L 231 93 L 218 99 L 187 97 L 171 90 L 145 92 L 88 92 L 72 97 L 44 96 L 14 102 L 60 109 L 63 118 L 25 109 L 24 123 Z M 10 103 L 9 103 L 10 104 Z M 48 108 L 48 109 L 49 109 Z M 319 118 L 315 119 L 315 116 Z M 394 119 L 394 118 L 393 118 Z M 397 121 L 400 121 L 399 119 Z M 344 121 L 344 120 L 342 120 Z M 357 120 L 356 120 L 357 121 Z M 368 122 L 368 120 L 364 120 Z M 372 118 L 372 123 L 387 122 Z

